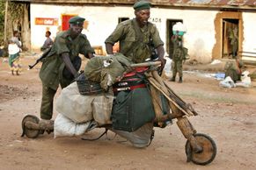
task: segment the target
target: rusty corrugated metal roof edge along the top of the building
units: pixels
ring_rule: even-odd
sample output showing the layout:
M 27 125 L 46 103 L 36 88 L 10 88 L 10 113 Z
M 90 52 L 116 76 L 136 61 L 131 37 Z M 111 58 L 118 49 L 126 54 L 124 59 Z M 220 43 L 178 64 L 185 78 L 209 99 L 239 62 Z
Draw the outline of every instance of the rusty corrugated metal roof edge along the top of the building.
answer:
M 40 4 L 134 4 L 136 0 L 11 0 Z M 150 0 L 156 6 L 233 8 L 256 11 L 256 0 Z

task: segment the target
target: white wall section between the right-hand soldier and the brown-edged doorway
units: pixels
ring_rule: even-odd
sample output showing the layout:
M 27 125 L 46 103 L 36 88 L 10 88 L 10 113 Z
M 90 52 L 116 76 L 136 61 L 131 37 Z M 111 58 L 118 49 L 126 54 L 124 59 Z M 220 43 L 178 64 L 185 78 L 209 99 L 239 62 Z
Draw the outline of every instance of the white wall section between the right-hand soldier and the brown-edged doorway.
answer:
M 209 62 L 216 43 L 214 25 L 216 13 L 217 11 L 152 9 L 151 17 L 162 18 L 161 37 L 163 40 L 166 39 L 166 20 L 182 19 L 183 24 L 187 26 L 184 46 L 188 48 L 190 58 Z

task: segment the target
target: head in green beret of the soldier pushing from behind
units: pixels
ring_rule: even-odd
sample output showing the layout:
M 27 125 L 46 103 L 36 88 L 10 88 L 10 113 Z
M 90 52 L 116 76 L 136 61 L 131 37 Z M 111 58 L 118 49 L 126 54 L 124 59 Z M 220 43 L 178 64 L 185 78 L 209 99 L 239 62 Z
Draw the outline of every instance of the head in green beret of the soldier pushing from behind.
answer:
M 69 19 L 69 30 L 72 37 L 77 37 L 83 30 L 85 18 L 79 16 Z

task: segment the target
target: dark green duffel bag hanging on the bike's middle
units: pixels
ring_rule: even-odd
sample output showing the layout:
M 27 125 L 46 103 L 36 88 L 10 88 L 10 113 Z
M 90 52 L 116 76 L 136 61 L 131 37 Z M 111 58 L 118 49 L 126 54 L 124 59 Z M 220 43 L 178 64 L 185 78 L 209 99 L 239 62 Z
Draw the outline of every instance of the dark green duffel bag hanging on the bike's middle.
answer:
M 136 131 L 153 122 L 155 111 L 146 88 L 121 91 L 113 102 L 112 127 L 119 131 Z

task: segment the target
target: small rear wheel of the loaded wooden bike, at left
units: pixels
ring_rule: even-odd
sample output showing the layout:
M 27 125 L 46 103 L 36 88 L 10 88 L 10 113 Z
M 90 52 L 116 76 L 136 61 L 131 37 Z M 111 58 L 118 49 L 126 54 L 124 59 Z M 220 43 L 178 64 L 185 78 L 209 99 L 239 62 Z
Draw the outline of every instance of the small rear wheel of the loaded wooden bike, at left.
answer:
M 39 130 L 28 129 L 25 125 L 27 121 L 33 122 L 35 124 L 39 124 L 40 119 L 38 117 L 33 116 L 33 115 L 27 115 L 26 117 L 24 117 L 23 120 L 22 120 L 22 123 L 21 123 L 22 130 L 23 130 L 23 133 L 22 133 L 21 136 L 23 137 L 24 135 L 26 135 L 26 137 L 28 137 L 28 138 L 37 138 L 40 134 L 40 131 Z

